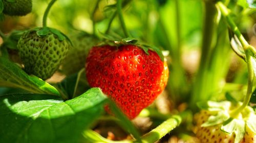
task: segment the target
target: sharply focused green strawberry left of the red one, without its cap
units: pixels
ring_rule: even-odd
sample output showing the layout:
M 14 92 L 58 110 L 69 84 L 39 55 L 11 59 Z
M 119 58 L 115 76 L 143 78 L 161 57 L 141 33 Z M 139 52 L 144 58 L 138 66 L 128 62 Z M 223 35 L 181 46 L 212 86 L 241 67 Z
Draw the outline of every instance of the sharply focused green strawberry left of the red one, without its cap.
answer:
M 45 80 L 58 69 L 70 44 L 66 39 L 60 41 L 51 31 L 38 36 L 35 30 L 30 30 L 19 39 L 17 48 L 25 71 Z

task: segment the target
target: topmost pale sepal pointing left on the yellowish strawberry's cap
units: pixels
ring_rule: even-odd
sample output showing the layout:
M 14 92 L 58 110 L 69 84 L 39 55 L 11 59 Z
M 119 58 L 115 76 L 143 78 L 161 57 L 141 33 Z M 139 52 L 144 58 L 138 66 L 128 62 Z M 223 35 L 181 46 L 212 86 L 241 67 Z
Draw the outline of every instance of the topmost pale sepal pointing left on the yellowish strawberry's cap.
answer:
M 221 111 L 221 110 L 229 110 L 231 103 L 229 101 L 215 102 L 198 102 L 197 106 L 200 109 L 206 109 L 209 111 Z

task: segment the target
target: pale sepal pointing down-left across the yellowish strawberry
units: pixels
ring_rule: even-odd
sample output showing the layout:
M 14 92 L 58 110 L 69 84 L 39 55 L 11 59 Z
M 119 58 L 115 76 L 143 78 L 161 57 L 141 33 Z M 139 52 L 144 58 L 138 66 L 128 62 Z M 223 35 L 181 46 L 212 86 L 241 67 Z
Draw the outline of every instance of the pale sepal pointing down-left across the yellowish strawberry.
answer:
M 209 127 L 223 123 L 229 118 L 229 113 L 227 111 L 219 111 L 216 116 L 210 116 L 208 120 L 203 123 L 202 127 Z

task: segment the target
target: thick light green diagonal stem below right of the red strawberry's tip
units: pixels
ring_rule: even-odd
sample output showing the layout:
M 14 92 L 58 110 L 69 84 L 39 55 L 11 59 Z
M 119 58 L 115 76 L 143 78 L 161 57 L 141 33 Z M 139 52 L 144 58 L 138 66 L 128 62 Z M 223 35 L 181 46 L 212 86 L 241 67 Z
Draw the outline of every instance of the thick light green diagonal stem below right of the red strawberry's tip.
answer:
M 142 142 L 156 142 L 164 135 L 175 129 L 181 123 L 180 116 L 173 116 L 164 121 L 161 125 L 142 136 Z

